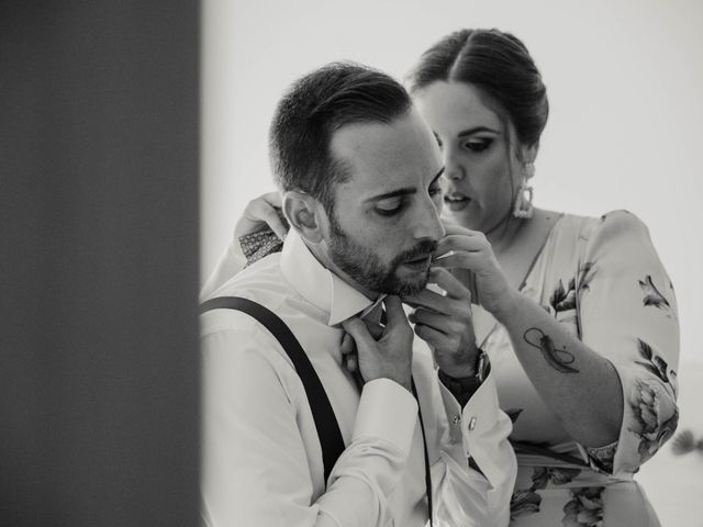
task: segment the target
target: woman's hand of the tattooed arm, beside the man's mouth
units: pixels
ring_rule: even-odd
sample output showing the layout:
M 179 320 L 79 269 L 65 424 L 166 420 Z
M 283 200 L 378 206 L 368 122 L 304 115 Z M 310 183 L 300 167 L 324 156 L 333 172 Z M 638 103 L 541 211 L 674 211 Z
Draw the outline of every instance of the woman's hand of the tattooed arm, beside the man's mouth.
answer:
M 447 235 L 439 240 L 433 266 L 451 269 L 451 273 L 475 291 L 476 303 L 499 321 L 515 304 L 516 291 L 503 273 L 491 244 L 483 233 L 458 225 L 445 225 Z M 444 256 L 447 255 L 447 256 Z

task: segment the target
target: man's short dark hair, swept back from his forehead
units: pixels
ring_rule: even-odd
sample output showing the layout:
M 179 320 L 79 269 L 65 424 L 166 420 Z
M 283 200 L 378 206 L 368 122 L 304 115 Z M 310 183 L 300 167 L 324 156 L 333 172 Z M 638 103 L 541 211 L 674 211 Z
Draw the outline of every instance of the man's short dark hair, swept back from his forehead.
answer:
M 355 123 L 391 123 L 412 102 L 392 77 L 354 63 L 332 63 L 295 81 L 271 122 L 270 160 L 283 191 L 304 191 L 334 209 L 334 186 L 348 169 L 332 156 L 335 131 Z

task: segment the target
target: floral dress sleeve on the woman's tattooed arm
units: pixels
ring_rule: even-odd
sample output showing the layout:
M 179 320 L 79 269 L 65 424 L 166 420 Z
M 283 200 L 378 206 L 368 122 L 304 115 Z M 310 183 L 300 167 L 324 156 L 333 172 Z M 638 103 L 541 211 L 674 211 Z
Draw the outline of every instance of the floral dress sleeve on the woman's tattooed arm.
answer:
M 645 224 L 626 211 L 594 221 L 577 273 L 579 332 L 617 370 L 624 414 L 617 442 L 590 453 L 613 474 L 634 473 L 677 427 L 677 303 Z

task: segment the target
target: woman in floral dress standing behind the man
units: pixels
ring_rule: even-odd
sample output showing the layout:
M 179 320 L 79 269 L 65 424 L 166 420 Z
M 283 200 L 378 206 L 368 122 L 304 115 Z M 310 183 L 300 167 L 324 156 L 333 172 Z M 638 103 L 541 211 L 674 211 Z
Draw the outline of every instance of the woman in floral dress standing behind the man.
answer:
M 633 475 L 677 426 L 679 324 L 647 227 L 626 211 L 533 208 L 548 102 L 513 35 L 453 33 L 409 82 L 445 159 L 438 253 L 453 253 L 435 265 L 464 280 L 467 300 L 432 290 L 404 300 L 431 345 L 451 337 L 453 319 L 473 321 L 470 340 L 488 354 L 514 423 L 511 526 L 658 526 Z M 282 233 L 271 204 L 271 194 L 252 202 L 235 240 L 260 221 Z M 241 267 L 233 247 L 205 289 Z

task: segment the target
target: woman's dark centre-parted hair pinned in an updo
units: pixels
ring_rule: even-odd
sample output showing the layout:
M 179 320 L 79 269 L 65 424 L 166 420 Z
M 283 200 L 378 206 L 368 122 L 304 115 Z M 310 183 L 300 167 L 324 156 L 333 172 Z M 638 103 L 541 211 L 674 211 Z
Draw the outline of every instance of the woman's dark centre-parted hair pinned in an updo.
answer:
M 498 30 L 461 30 L 427 49 L 408 76 L 410 91 L 436 81 L 476 86 L 498 102 L 522 144 L 539 142 L 549 102 L 542 75 L 525 45 Z

